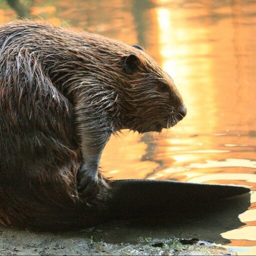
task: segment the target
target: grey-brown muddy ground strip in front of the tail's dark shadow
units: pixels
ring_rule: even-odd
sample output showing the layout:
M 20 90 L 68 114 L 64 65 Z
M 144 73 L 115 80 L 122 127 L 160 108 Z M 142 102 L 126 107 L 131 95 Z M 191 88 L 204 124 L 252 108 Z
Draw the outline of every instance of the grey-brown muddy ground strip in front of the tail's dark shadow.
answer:
M 104 226 L 99 226 L 80 232 L 49 233 L 1 227 L 0 255 L 236 255 L 197 239 L 136 237 L 130 242 L 111 243 L 96 238 L 108 235 L 111 239 L 113 232 L 120 233 L 118 229 L 115 226 L 115 231 L 107 233 Z

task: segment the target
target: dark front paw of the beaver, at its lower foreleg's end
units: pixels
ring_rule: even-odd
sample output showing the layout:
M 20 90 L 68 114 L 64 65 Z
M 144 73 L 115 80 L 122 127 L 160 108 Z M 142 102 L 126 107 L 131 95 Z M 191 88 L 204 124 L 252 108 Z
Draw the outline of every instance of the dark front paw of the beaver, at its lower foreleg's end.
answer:
M 97 170 L 82 166 L 77 173 L 77 191 L 85 199 L 95 197 L 99 192 Z

